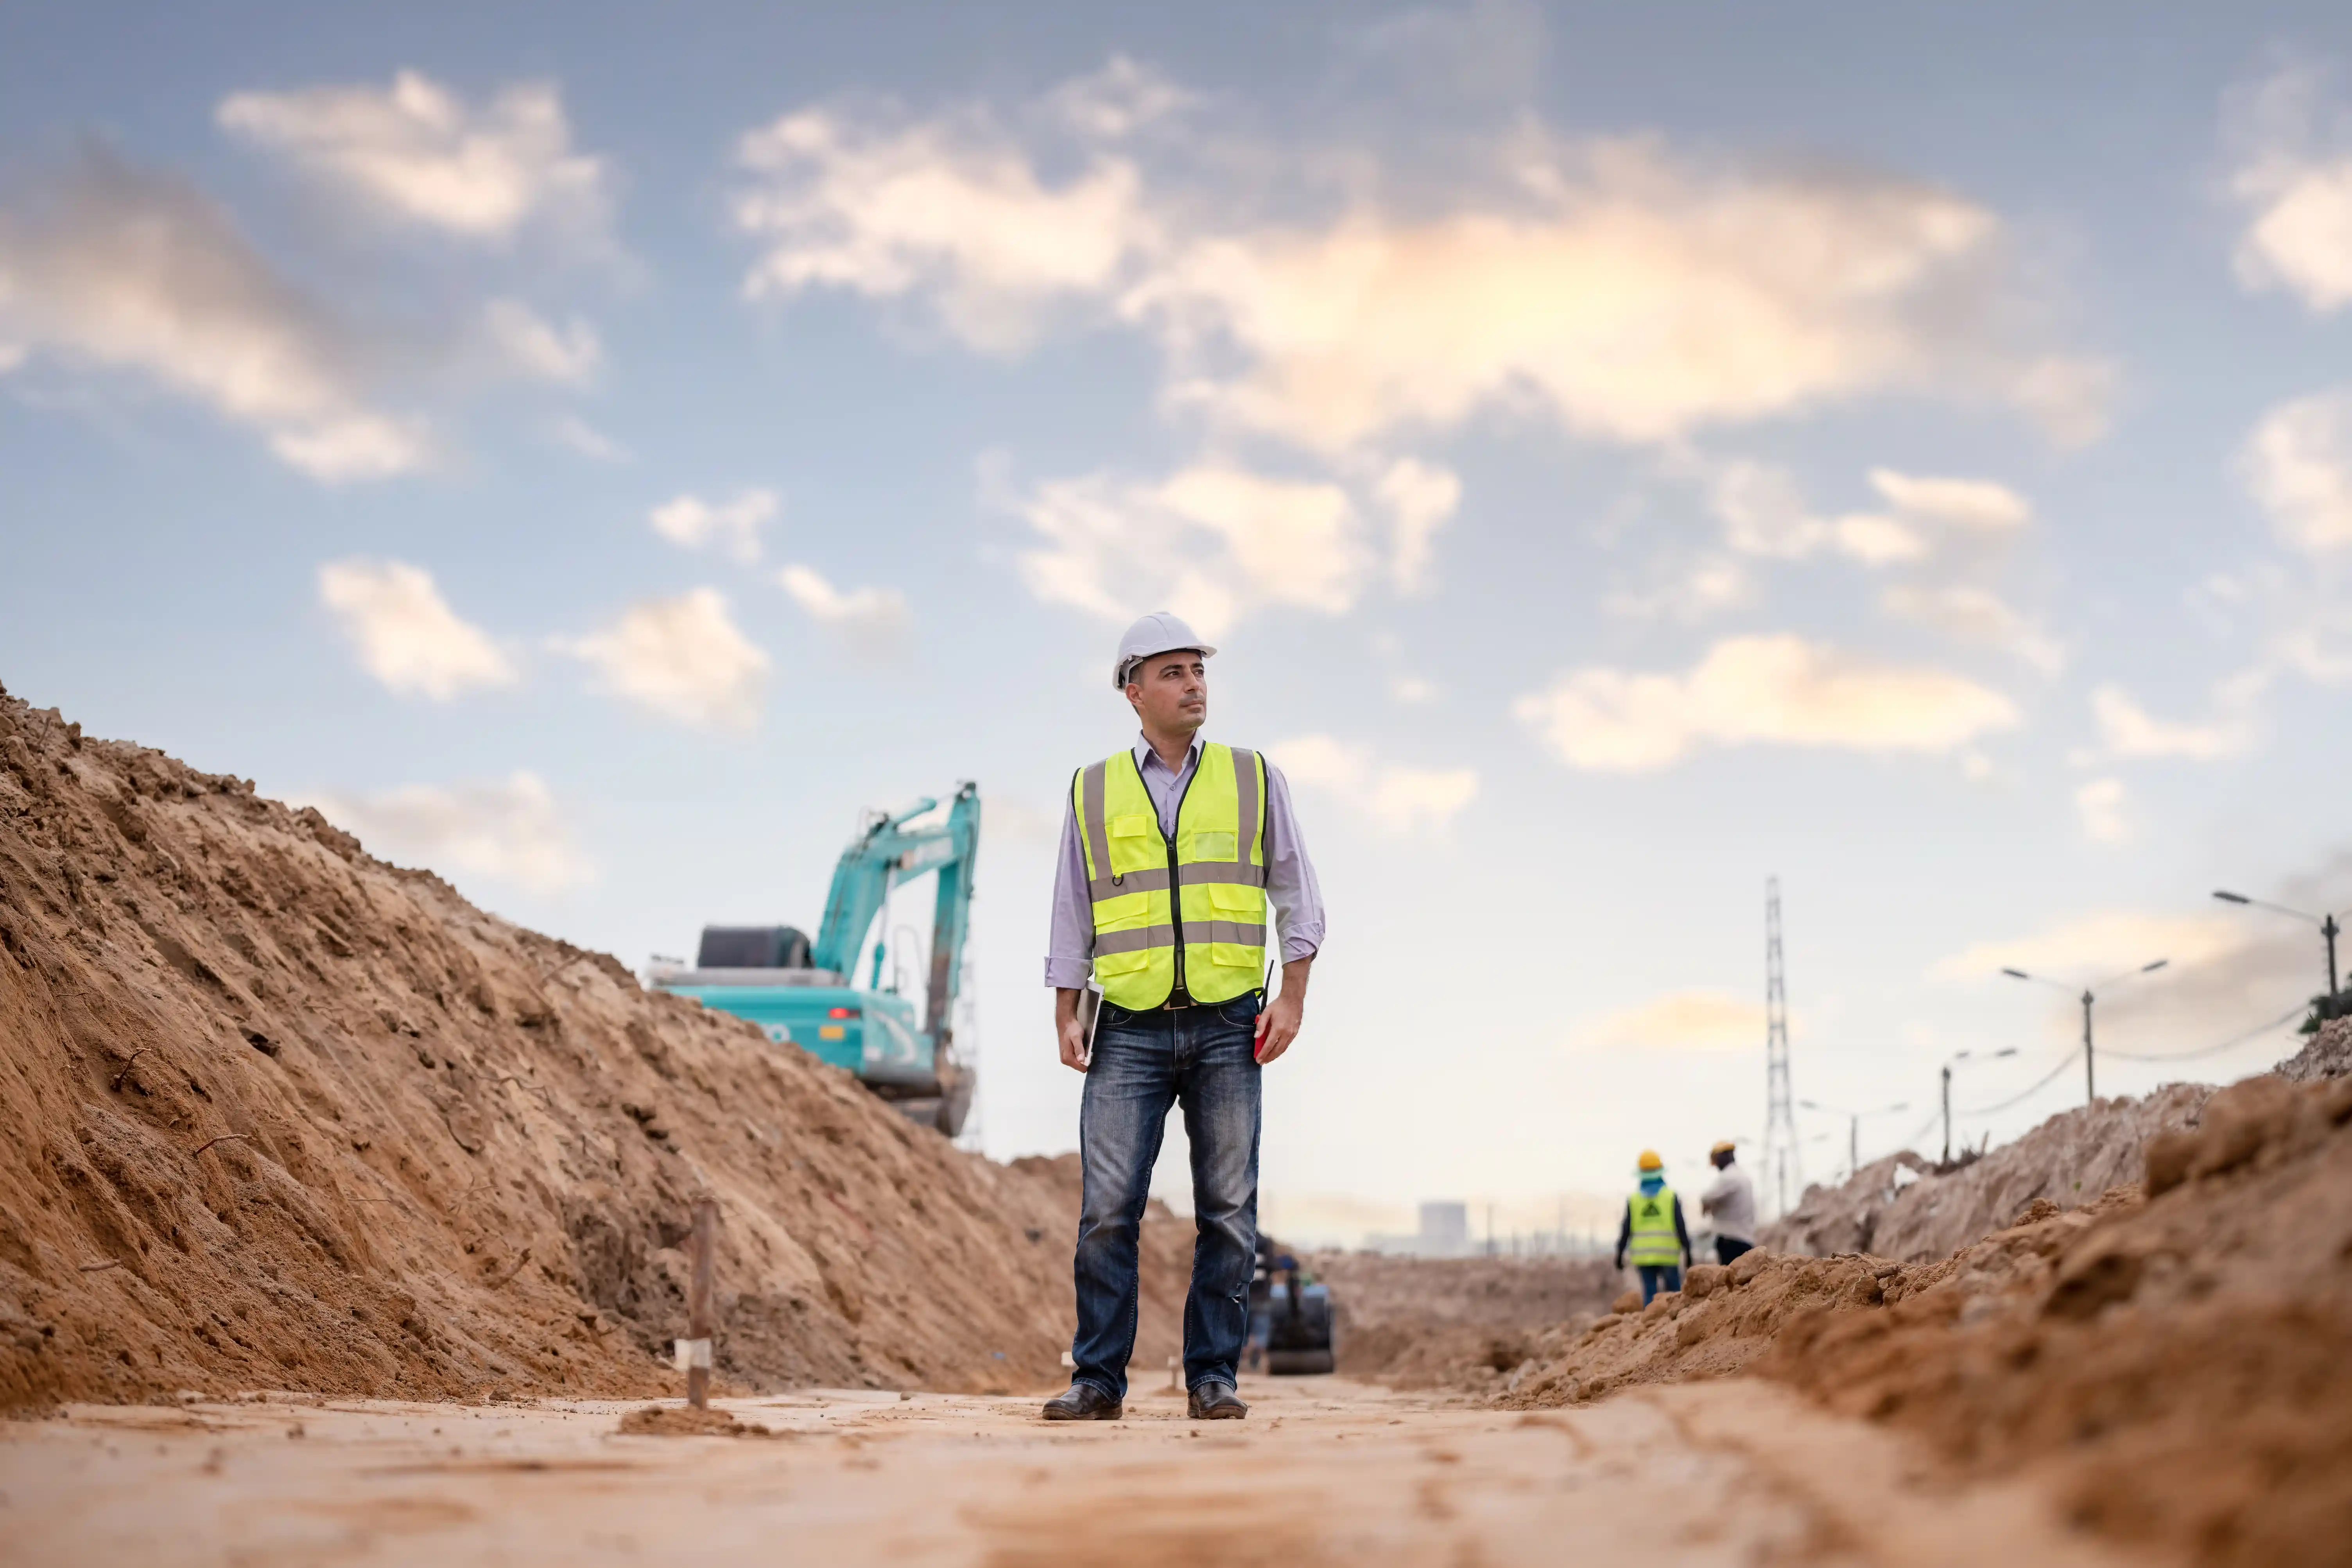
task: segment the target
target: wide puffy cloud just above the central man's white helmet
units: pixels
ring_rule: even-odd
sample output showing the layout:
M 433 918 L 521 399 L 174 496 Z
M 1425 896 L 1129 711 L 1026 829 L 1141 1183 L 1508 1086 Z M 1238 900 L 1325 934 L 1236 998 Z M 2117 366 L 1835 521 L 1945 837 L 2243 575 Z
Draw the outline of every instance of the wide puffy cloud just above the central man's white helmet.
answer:
M 1167 607 L 1214 637 L 1263 607 L 1343 614 L 1374 564 L 1338 484 L 1216 461 L 1157 482 L 1049 480 L 1011 505 L 1042 536 L 1021 555 L 1030 592 L 1105 621 Z

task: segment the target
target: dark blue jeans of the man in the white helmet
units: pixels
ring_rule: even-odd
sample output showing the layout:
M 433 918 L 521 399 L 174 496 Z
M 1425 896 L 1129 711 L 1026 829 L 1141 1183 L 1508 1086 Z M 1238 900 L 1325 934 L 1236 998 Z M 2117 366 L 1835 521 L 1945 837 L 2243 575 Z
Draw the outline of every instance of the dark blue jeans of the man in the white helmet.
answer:
M 1129 1013 L 1103 1004 L 1077 1114 L 1077 1380 L 1127 1399 L 1136 1349 L 1136 1237 L 1169 1107 L 1192 1140 L 1192 1291 L 1183 1380 L 1235 1382 L 1258 1253 L 1258 997 Z

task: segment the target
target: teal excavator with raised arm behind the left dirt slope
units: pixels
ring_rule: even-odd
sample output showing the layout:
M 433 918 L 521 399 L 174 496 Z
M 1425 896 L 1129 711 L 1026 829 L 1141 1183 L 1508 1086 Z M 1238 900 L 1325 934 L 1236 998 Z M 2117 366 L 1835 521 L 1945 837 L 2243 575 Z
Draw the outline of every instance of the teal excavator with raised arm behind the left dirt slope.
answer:
M 981 790 L 955 788 L 946 813 L 936 799 L 908 811 L 868 813 L 833 867 L 826 919 L 811 943 L 795 926 L 703 926 L 694 969 L 656 959 L 652 983 L 703 1006 L 748 1018 L 779 1046 L 847 1067 L 908 1119 L 948 1138 L 964 1131 L 976 1086 L 974 1065 L 955 1048 L 955 997 L 964 978 L 971 929 L 971 863 L 981 851 Z M 922 1016 L 894 969 L 882 971 L 889 931 L 873 947 L 866 985 L 851 973 L 891 889 L 938 875 L 931 900 L 931 973 Z

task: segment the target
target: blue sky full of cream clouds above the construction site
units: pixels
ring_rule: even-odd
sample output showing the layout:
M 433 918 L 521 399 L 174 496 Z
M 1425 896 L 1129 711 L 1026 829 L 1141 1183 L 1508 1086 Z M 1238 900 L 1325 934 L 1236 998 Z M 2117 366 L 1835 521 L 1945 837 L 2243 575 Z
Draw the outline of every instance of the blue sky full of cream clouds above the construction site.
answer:
M 2002 966 L 2284 1053 L 2124 1060 L 2352 903 L 2352 16 L 1263 9 L 7 9 L 0 679 L 630 964 L 978 778 L 1018 1154 L 1171 607 L 1331 900 L 1308 1227 L 1762 1131 L 1766 877 L 1865 1157 L 2079 1098 Z

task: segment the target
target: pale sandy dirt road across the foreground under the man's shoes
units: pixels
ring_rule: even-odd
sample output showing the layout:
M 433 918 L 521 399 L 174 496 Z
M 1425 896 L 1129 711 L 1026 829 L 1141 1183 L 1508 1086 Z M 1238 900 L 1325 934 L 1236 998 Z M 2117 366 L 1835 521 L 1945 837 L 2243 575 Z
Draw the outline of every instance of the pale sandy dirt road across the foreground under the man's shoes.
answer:
M 0 1427 L 0 1561 L 205 1563 L 2105 1563 L 2018 1488 L 1764 1385 L 1517 1415 L 1343 1380 L 1249 1422 L 1145 1392 L 727 1401 L 774 1439 L 619 1436 L 619 1403 L 254 1399 Z M 2133 1561 L 2145 1563 L 2145 1556 Z

